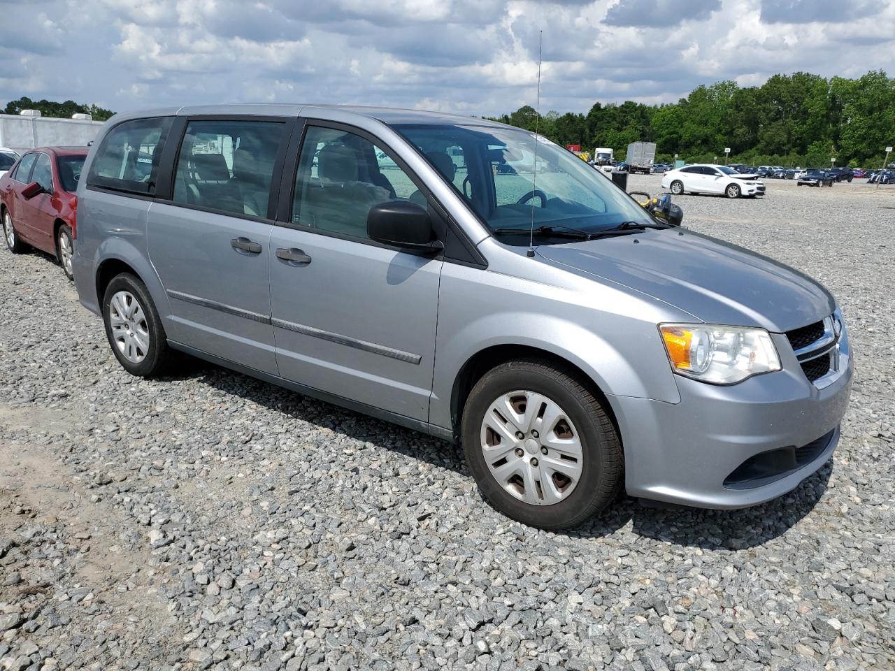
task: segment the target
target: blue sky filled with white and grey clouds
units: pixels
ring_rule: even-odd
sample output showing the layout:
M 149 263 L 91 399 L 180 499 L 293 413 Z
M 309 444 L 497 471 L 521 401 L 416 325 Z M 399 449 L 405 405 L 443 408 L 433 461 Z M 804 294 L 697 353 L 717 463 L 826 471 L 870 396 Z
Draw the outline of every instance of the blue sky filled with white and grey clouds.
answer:
M 0 0 L 0 106 L 344 103 L 499 115 L 895 75 L 895 0 Z

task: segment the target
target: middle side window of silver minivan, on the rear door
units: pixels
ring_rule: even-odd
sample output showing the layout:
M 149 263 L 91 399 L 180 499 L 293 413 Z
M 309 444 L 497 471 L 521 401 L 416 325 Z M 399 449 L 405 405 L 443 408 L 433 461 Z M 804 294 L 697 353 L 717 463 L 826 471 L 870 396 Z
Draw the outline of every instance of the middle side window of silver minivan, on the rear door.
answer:
M 175 202 L 267 218 L 274 164 L 285 141 L 285 123 L 188 123 L 177 159 Z

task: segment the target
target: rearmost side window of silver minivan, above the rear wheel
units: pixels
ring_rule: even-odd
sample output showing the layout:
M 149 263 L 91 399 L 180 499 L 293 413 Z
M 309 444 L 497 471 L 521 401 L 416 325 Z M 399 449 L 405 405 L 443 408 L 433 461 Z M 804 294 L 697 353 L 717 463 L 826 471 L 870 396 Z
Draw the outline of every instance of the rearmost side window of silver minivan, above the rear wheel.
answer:
M 158 161 L 171 117 L 121 123 L 103 139 L 90 165 L 87 185 L 154 195 Z

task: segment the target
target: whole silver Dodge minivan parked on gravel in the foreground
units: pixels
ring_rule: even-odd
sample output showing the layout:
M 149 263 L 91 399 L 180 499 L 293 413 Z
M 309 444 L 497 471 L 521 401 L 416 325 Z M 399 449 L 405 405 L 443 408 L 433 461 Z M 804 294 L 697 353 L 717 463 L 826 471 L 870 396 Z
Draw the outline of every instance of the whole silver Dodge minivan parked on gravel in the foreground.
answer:
M 543 137 L 338 106 L 116 115 L 78 188 L 81 303 L 133 375 L 186 352 L 457 441 L 544 529 L 624 488 L 754 505 L 840 437 L 810 277 L 669 225 Z

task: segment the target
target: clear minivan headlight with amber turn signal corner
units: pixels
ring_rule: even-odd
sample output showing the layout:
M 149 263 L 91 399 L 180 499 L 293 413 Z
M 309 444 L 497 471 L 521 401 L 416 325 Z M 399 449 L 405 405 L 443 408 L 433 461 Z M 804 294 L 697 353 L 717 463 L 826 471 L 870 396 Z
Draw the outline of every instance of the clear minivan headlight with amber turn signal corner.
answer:
M 732 385 L 780 370 L 780 356 L 763 328 L 660 324 L 674 371 L 714 385 Z

